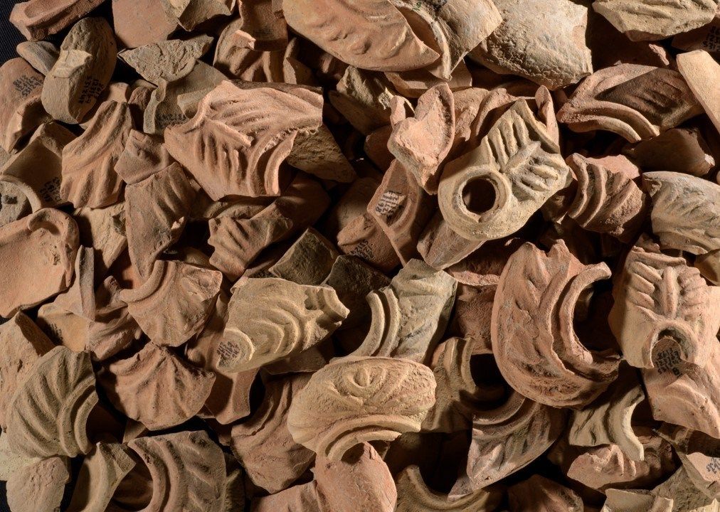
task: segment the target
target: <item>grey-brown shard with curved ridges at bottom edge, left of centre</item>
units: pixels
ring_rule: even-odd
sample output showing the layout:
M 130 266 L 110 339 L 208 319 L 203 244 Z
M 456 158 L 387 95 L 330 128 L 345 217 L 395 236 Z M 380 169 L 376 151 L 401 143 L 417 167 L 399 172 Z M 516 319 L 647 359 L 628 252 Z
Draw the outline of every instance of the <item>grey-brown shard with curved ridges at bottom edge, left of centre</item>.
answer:
M 225 510 L 225 457 L 207 432 L 143 436 L 127 446 L 152 478 L 152 497 L 142 512 Z M 129 475 L 136 471 L 138 466 Z

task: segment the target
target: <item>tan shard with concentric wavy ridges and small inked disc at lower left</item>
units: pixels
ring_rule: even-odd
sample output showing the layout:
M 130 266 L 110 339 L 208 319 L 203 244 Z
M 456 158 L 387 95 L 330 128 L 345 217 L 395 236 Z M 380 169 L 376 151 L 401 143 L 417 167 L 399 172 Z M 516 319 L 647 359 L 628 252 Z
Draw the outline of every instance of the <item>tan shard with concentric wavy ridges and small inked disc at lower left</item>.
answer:
M 330 287 L 250 278 L 230 298 L 217 366 L 244 372 L 297 354 L 330 336 L 348 313 Z

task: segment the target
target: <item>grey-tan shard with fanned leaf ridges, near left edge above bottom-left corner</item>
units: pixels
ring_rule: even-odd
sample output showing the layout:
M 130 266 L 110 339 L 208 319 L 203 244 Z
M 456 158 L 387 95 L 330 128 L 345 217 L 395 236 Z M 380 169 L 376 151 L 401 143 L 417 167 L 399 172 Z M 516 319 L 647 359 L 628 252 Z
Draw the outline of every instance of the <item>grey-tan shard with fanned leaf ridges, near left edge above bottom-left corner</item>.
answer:
M 10 448 L 27 457 L 89 452 L 86 423 L 97 400 L 89 354 L 56 346 L 35 363 L 12 397 Z

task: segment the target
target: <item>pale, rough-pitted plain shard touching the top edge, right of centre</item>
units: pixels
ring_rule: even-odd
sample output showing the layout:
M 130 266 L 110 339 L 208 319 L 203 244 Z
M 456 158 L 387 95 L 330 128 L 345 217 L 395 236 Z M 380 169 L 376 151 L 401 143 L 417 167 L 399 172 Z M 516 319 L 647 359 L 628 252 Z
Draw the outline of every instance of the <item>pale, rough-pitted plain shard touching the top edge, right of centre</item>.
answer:
M 524 76 L 554 91 L 593 73 L 588 2 L 493 0 L 503 23 L 470 56 L 496 73 Z

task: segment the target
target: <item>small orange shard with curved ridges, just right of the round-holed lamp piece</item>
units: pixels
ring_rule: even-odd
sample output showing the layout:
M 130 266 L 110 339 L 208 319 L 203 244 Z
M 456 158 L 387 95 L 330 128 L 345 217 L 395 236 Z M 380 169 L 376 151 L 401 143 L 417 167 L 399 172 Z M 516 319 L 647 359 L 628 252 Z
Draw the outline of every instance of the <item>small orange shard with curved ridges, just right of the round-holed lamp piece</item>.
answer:
M 647 216 L 647 195 L 628 176 L 580 154 L 567 158 L 567 163 L 577 178 L 577 193 L 567 215 L 587 230 L 608 233 L 624 243 L 633 241 Z

